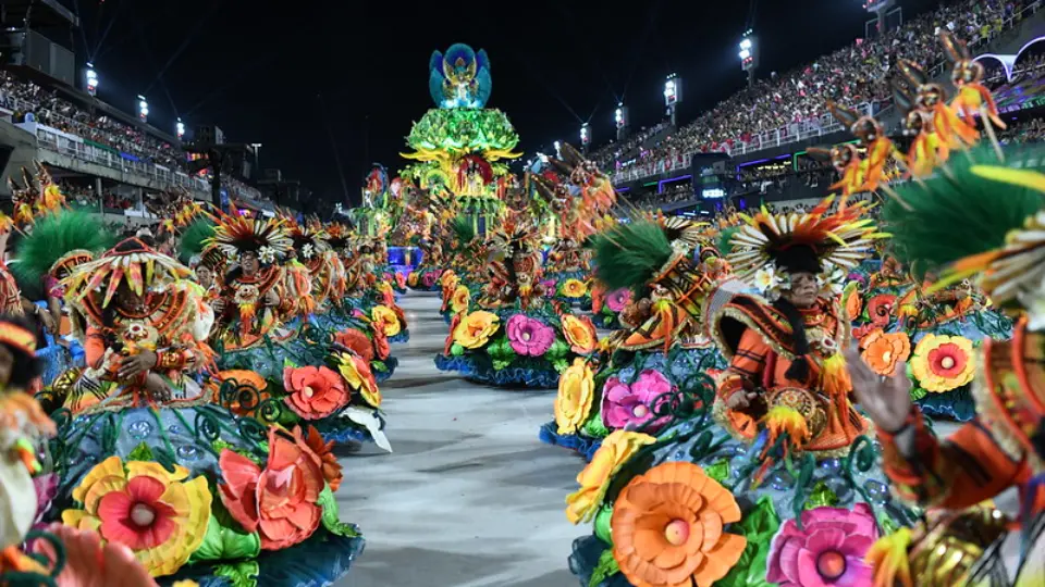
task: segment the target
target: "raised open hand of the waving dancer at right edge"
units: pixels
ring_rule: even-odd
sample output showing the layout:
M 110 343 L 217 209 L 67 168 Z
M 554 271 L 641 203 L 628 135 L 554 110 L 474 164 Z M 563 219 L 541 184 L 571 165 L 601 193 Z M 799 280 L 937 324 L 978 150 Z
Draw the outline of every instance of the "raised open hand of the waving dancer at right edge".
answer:
M 852 380 L 852 391 L 875 426 L 889 434 L 902 428 L 911 413 L 912 403 L 907 363 L 897 363 L 892 376 L 881 376 L 871 371 L 856 348 L 846 351 L 846 363 Z

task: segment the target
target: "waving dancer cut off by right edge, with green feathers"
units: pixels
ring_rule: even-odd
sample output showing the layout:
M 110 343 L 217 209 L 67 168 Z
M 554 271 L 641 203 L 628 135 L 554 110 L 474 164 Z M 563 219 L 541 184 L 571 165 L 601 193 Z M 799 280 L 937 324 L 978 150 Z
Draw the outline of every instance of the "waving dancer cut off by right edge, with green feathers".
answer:
M 1001 550 L 992 546 L 1004 540 L 1005 520 L 979 504 L 1010 487 L 1022 501 L 1028 563 L 1017 584 L 1040 583 L 1036 565 L 1045 560 L 1045 151 L 1013 149 L 1004 160 L 991 148 L 968 154 L 897 188 L 883 214 L 893 252 L 919 273 L 938 276 L 935 287 L 974 278 L 1018 321 L 1011 340 L 985 339 L 975 351 L 941 345 L 920 367 L 972 379 L 975 419 L 946 440 L 912 403 L 905 365 L 886 378 L 850 358 L 853 387 L 878 429 L 894 489 L 938 512 L 872 549 L 876 585 L 922 585 L 944 575 L 962 585 L 985 585 L 993 575 L 1001 578 L 991 585 L 1007 585 Z

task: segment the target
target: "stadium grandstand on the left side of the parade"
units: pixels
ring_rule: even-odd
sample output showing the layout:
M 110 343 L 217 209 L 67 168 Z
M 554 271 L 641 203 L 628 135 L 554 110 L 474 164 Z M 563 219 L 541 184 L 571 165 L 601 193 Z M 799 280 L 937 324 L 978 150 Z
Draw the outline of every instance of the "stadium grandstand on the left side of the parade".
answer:
M 98 210 L 127 225 L 157 221 L 146 202 L 159 192 L 186 190 L 211 201 L 211 175 L 182 140 L 95 97 L 83 63 L 65 45 L 76 15 L 56 0 L 3 2 L 0 43 L 0 199 L 10 203 L 9 178 L 44 163 L 73 205 Z M 144 107 L 143 107 L 144 108 Z M 192 132 L 185 135 L 190 138 Z M 248 149 L 221 174 L 221 199 L 271 214 L 271 190 L 251 177 Z M 256 166 L 256 165 L 255 165 Z M 283 205 L 295 202 L 283 201 Z

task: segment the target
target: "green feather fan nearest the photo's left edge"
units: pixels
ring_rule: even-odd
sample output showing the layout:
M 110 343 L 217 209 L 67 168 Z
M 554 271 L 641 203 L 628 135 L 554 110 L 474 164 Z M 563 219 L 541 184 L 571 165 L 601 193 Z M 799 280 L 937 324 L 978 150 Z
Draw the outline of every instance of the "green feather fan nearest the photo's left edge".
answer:
M 33 225 L 19 242 L 11 271 L 26 283 L 39 282 L 56 261 L 76 249 L 100 253 L 115 245 L 97 214 L 65 210 Z

